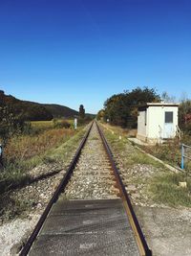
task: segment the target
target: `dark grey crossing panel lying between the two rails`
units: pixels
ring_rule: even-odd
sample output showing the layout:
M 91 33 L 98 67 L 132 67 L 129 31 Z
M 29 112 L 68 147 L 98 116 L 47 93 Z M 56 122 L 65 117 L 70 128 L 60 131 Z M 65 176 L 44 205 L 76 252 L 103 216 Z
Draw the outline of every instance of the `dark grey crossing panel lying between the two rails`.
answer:
M 58 200 L 30 256 L 129 255 L 138 245 L 121 199 Z

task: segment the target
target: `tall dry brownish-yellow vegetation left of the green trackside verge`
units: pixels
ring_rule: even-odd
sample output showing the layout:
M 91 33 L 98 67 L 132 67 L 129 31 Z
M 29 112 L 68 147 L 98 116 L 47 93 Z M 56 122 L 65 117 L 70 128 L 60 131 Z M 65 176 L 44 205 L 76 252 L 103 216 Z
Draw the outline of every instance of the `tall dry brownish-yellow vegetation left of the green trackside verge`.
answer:
M 53 123 L 53 122 L 52 122 Z M 51 128 L 51 122 L 32 123 L 28 134 L 15 133 L 4 149 L 4 167 L 0 172 L 0 193 L 30 181 L 28 171 L 42 163 L 48 152 L 63 145 L 81 128 Z M 44 128 L 43 128 L 44 127 Z

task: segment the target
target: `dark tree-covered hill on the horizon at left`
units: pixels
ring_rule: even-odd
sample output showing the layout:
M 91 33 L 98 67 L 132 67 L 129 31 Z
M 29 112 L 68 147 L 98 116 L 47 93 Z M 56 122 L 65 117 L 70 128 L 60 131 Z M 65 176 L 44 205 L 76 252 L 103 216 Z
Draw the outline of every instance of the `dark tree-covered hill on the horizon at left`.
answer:
M 48 121 L 53 118 L 70 118 L 78 112 L 64 105 L 38 104 L 28 101 L 21 101 L 11 95 L 6 95 L 0 90 L 0 106 L 8 105 L 11 112 L 22 116 L 28 121 Z

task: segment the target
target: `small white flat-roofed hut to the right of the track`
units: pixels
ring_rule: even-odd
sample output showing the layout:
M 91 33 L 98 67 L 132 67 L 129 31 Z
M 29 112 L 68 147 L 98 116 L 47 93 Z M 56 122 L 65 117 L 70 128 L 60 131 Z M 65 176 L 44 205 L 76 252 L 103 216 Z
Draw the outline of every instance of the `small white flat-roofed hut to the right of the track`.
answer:
M 178 104 L 148 103 L 138 107 L 137 138 L 147 143 L 162 143 L 174 138 L 178 130 Z

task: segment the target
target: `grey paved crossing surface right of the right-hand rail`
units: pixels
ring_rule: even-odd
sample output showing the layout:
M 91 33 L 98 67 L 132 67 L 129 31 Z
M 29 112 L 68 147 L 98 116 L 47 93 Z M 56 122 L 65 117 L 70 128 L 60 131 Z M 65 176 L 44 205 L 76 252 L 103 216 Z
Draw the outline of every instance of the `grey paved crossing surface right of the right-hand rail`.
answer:
M 191 255 L 191 209 L 135 206 L 153 255 Z

